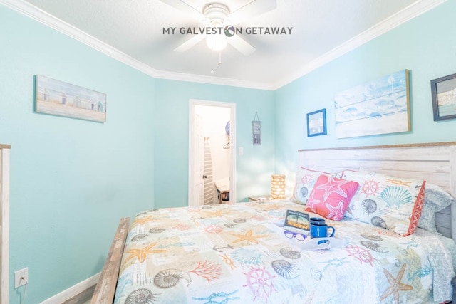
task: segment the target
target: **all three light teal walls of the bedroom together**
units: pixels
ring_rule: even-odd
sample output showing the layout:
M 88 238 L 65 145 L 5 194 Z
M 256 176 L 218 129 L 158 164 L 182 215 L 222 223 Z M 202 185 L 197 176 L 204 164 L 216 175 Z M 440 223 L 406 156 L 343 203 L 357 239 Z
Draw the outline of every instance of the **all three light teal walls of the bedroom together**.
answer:
M 430 80 L 456 73 L 455 1 L 375 38 L 275 92 L 154 79 L 0 6 L 0 142 L 11 144 L 10 303 L 28 267 L 26 303 L 39 303 L 103 266 L 118 219 L 185 206 L 189 99 L 236 103 L 237 200 L 292 187 L 301 148 L 456 140 L 456 120 L 434 122 Z M 333 95 L 410 70 L 412 131 L 337 140 Z M 106 93 L 104 124 L 33 112 L 33 75 Z M 306 137 L 306 113 L 326 108 L 328 135 Z M 261 120 L 261 146 L 252 120 Z M 290 192 L 289 192 L 290 193 Z

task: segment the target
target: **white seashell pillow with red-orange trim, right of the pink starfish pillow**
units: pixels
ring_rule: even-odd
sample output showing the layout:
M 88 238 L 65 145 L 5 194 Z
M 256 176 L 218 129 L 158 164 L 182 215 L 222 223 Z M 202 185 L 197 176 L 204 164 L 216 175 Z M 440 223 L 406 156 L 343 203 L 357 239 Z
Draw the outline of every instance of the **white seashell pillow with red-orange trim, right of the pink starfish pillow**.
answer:
M 425 181 L 390 177 L 375 172 L 342 172 L 359 183 L 345 216 L 401 236 L 413 234 L 423 209 Z

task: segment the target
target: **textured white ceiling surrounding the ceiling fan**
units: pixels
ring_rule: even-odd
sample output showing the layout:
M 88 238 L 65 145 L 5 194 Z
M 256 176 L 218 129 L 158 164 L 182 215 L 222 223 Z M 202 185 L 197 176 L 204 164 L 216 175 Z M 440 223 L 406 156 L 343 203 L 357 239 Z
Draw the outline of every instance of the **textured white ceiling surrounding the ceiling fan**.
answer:
M 31 4 L 24 9 L 46 19 L 54 27 L 68 23 L 125 56 L 150 68 L 158 77 L 186 78 L 214 83 L 274 89 L 296 79 L 337 54 L 407 21 L 445 0 L 276 0 L 276 9 L 235 26 L 256 51 L 244 56 L 228 45 L 222 52 L 211 51 L 200 41 L 185 52 L 173 51 L 192 38 L 190 34 L 163 33 L 163 28 L 204 26 L 192 16 L 160 0 L 0 0 Z M 209 0 L 182 0 L 202 8 Z M 234 11 L 252 0 L 217 0 Z M 30 13 L 30 11 L 32 11 Z M 42 13 L 42 12 L 40 12 Z M 40 19 L 42 17 L 38 17 Z M 60 20 L 58 20 L 60 19 Z M 63 21 L 63 22 L 61 22 Z M 248 27 L 293 28 L 291 34 L 247 34 Z M 65 32 L 65 31 L 64 31 Z M 68 28 L 66 29 L 68 32 Z M 71 33 L 70 33 L 71 34 Z M 78 36 L 77 34 L 73 36 Z M 85 38 L 88 39 L 87 37 Z M 95 39 L 95 40 L 96 40 Z M 336 55 L 331 55 L 332 53 Z M 222 64 L 219 64 L 221 57 Z M 211 70 L 214 73 L 211 73 Z

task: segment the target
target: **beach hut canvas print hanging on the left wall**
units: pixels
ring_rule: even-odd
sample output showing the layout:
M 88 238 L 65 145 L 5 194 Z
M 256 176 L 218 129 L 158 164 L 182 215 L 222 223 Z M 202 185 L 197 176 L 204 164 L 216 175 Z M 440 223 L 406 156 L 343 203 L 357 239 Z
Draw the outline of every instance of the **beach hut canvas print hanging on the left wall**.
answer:
M 35 112 L 106 122 L 106 95 L 36 75 Z

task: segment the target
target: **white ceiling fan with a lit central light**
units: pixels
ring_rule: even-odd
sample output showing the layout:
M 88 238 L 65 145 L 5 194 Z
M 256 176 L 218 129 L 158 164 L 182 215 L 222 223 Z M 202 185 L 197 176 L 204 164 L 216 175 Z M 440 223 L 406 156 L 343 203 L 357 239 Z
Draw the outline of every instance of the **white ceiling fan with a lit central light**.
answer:
M 175 9 L 189 14 L 199 22 L 205 23 L 208 28 L 217 28 L 217 31 L 202 31 L 197 35 L 193 36 L 189 40 L 182 43 L 180 46 L 175 48 L 174 51 L 183 52 L 195 46 L 199 41 L 206 38 L 207 46 L 214 50 L 222 50 L 227 43 L 237 49 L 245 56 L 250 55 L 255 51 L 254 46 L 245 41 L 241 36 L 236 33 L 227 33 L 221 31 L 222 28 L 225 30 L 227 26 L 232 26 L 239 22 L 247 19 L 252 19 L 255 16 L 266 13 L 276 9 L 276 0 L 250 0 L 247 4 L 244 4 L 239 9 L 231 11 L 229 6 L 220 2 L 209 2 L 204 5 L 202 11 L 191 6 L 185 0 L 160 0 L 165 4 L 168 4 Z

